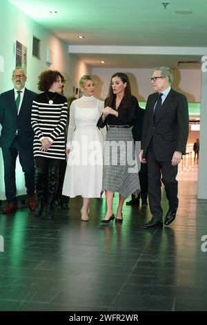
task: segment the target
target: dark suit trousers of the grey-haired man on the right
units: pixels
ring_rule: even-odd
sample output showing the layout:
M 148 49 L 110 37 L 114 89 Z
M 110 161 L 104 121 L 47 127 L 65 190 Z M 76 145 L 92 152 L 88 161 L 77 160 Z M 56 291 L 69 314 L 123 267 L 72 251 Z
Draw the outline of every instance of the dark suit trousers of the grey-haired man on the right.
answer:
M 154 219 L 162 219 L 161 208 L 161 181 L 165 185 L 166 197 L 170 210 L 177 210 L 177 166 L 172 166 L 171 161 L 158 161 L 155 158 L 152 144 L 148 147 L 148 197 L 150 212 Z

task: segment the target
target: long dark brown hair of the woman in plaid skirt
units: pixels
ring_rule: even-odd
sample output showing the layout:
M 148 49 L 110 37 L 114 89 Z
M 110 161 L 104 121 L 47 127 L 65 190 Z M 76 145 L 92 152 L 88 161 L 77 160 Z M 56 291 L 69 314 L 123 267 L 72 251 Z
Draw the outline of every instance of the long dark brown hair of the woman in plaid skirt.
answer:
M 106 98 L 106 106 L 111 106 L 112 102 L 115 100 L 116 96 L 113 91 L 112 91 L 112 78 L 114 77 L 119 77 L 122 82 L 126 82 L 126 87 L 124 89 L 124 97 L 123 97 L 123 104 L 124 108 L 128 108 L 130 104 L 130 99 L 131 99 L 131 87 L 130 87 L 130 81 L 128 79 L 128 75 L 123 72 L 117 72 L 114 75 L 112 75 L 111 80 L 110 80 L 110 86 L 109 86 L 109 91 L 108 91 L 108 97 Z

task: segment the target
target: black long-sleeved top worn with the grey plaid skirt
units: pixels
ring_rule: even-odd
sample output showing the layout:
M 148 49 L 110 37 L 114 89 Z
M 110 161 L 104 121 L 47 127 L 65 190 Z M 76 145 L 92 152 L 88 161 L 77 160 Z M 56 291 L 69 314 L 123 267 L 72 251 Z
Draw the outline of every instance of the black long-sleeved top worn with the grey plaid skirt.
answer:
M 104 106 L 106 106 L 106 101 L 105 101 Z M 108 125 L 130 125 L 130 127 L 132 127 L 132 125 L 134 125 L 136 118 L 137 118 L 136 111 L 137 111 L 138 106 L 139 106 L 139 104 L 137 102 L 137 98 L 133 95 L 131 96 L 130 104 L 128 104 L 127 108 L 124 106 L 124 102 L 122 99 L 121 103 L 119 104 L 118 109 L 116 110 L 116 103 L 115 103 L 115 100 L 113 100 L 112 105 L 110 107 L 119 113 L 118 117 L 116 117 L 115 115 L 109 114 L 108 116 L 106 116 L 106 119 L 103 122 L 103 120 L 102 120 L 103 114 L 102 114 L 97 122 L 97 127 L 102 128 L 102 127 L 105 127 L 106 124 L 108 124 Z

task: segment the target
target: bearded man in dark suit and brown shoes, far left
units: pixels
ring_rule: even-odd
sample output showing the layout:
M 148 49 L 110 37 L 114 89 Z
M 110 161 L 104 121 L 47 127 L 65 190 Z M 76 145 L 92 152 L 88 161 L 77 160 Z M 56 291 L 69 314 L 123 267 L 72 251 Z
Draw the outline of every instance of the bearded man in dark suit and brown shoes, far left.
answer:
M 8 205 L 4 214 L 17 210 L 17 188 L 15 180 L 16 160 L 25 175 L 28 193 L 28 207 L 35 210 L 34 198 L 34 159 L 32 144 L 34 133 L 31 127 L 32 100 L 37 95 L 25 88 L 27 77 L 21 67 L 12 73 L 14 89 L 0 95 L 0 123 L 2 126 L 0 147 L 3 155 L 4 183 Z

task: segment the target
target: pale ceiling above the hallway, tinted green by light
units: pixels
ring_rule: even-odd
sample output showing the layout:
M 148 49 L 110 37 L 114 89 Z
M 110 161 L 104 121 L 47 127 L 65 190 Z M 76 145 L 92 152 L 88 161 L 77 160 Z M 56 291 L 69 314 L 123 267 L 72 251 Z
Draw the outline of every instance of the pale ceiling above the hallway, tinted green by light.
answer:
M 9 0 L 26 12 L 34 21 L 49 29 L 72 46 L 91 66 L 139 68 L 177 66 L 178 61 L 199 60 L 207 54 L 207 1 L 169 0 L 166 9 L 161 0 Z M 57 15 L 51 15 L 56 10 Z M 179 15 L 176 11 L 190 10 L 192 14 Z M 79 39 L 78 35 L 84 35 Z M 90 46 L 88 53 L 85 46 Z M 97 46 L 106 46 L 101 53 Z M 126 51 L 112 53 L 111 46 L 151 46 L 154 52 L 135 54 Z M 166 54 L 169 46 L 186 48 Z M 157 47 L 163 50 L 157 53 Z M 188 47 L 188 48 L 187 48 Z M 195 51 L 193 48 L 201 50 Z M 190 65 L 196 67 L 197 65 Z

